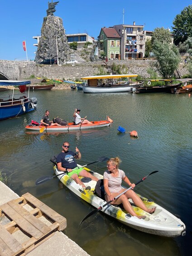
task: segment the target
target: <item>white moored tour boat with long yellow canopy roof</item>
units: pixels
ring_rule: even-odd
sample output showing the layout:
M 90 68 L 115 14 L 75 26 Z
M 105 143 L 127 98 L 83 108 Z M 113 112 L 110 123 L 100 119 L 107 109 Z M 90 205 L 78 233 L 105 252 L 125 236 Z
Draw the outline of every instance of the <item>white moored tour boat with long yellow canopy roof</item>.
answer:
M 87 80 L 82 89 L 85 93 L 132 92 L 133 88 L 143 85 L 143 82 L 132 82 L 137 77 L 134 74 L 81 77 Z

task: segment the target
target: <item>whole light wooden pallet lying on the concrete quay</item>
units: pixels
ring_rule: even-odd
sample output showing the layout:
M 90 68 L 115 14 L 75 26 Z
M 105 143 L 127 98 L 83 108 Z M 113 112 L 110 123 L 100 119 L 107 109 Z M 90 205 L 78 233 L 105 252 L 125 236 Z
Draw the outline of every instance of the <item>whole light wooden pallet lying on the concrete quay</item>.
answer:
M 0 224 L 0 256 L 24 256 L 53 236 L 54 232 L 67 227 L 65 217 L 30 193 L 1 205 L 0 217 L 2 216 L 7 217 L 10 222 Z M 24 242 L 15 238 L 17 232 L 22 232 Z

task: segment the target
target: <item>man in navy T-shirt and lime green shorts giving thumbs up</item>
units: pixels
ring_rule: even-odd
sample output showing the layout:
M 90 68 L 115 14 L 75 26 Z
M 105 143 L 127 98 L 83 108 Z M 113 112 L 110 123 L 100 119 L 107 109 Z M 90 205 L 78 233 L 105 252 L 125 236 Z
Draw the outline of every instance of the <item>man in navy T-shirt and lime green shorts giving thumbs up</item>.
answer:
M 91 173 L 87 172 L 83 168 L 78 168 L 75 159 L 81 159 L 82 154 L 76 147 L 76 153 L 69 150 L 69 143 L 65 141 L 62 145 L 62 152 L 57 156 L 57 167 L 58 171 L 67 171 L 68 176 L 72 178 L 77 184 L 82 185 L 83 188 L 86 188 L 84 183 L 79 179 L 79 176 L 91 178 L 92 180 L 98 181 L 98 179 L 93 176 Z M 91 189 L 88 186 L 86 189 Z

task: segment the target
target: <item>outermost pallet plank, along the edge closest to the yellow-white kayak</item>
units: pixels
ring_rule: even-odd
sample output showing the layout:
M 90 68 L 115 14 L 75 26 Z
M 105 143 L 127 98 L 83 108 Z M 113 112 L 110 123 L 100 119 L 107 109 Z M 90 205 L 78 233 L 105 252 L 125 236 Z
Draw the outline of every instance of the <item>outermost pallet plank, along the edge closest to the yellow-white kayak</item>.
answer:
M 67 220 L 65 217 L 61 216 L 55 212 L 52 208 L 48 207 L 46 204 L 42 203 L 40 200 L 35 198 L 30 193 L 25 193 L 22 195 L 27 201 L 32 203 L 35 207 L 39 208 L 44 214 L 53 219 L 55 222 L 58 222 L 59 225 L 62 225 L 62 230 L 67 227 Z

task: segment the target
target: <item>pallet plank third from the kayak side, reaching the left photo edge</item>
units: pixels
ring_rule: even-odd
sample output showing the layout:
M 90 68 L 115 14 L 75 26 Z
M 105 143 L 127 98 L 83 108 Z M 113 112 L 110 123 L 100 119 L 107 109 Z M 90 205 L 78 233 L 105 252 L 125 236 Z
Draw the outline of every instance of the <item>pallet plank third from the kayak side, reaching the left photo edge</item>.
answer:
M 29 233 L 32 237 L 39 239 L 43 236 L 43 232 L 35 228 L 30 222 L 28 222 L 23 216 L 17 213 L 9 204 L 4 203 L 1 205 L 1 209 L 12 219 L 17 225 L 25 232 Z

